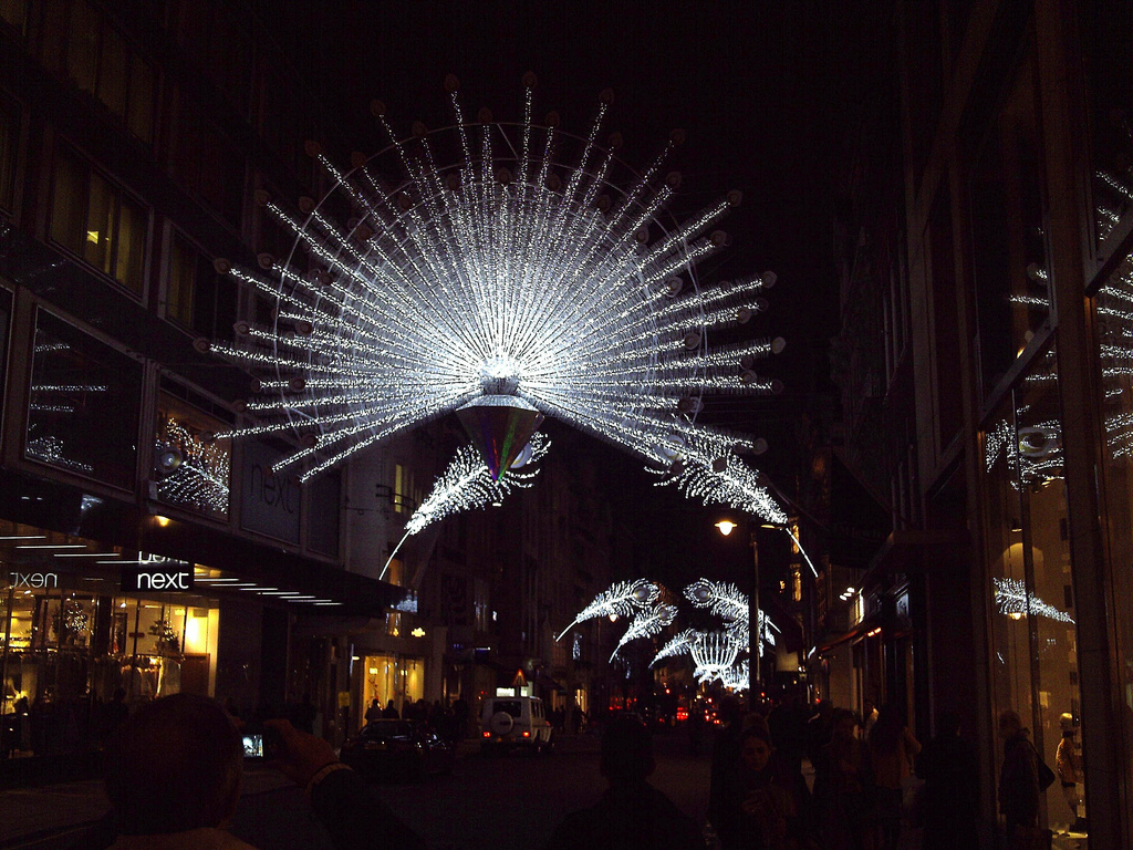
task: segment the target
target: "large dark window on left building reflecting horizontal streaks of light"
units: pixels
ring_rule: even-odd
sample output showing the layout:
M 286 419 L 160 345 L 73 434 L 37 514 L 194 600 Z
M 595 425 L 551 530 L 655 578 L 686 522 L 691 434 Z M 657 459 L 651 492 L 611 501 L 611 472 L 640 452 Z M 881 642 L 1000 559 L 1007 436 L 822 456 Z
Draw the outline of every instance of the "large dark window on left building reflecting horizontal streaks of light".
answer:
M 142 365 L 39 311 L 24 454 L 133 490 Z

